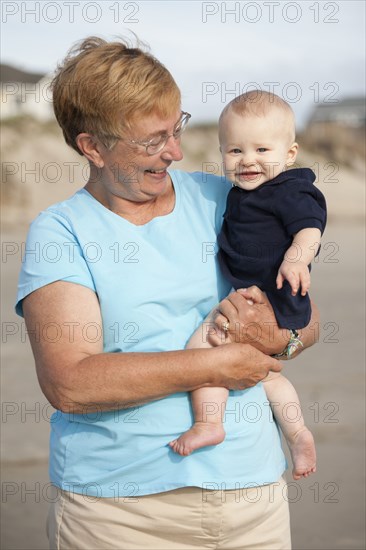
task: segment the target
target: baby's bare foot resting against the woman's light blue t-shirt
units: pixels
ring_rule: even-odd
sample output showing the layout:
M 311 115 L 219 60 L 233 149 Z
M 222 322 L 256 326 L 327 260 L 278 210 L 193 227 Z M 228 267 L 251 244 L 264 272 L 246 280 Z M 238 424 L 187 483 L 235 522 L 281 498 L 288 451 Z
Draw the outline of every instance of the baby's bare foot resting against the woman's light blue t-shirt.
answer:
M 225 439 L 225 430 L 221 423 L 195 422 L 190 430 L 182 434 L 178 439 L 171 441 L 169 445 L 174 452 L 187 456 L 193 451 L 218 445 Z

